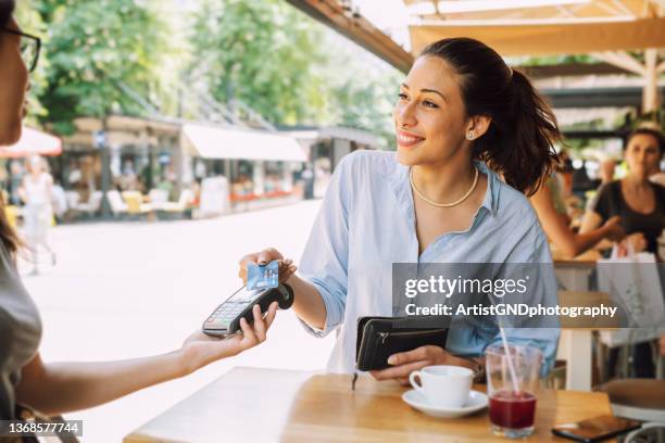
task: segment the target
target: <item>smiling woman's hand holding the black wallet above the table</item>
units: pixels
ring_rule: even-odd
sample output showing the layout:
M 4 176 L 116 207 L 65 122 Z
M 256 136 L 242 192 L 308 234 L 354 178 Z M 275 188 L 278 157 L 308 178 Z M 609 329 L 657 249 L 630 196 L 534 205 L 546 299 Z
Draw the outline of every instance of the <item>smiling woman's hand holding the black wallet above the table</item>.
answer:
M 442 347 L 426 345 L 407 352 L 392 354 L 388 358 L 391 368 L 373 370 L 372 377 L 377 380 L 397 380 L 402 384 L 409 384 L 409 375 L 414 370 L 431 365 L 454 365 L 468 367 L 469 362 L 455 357 Z

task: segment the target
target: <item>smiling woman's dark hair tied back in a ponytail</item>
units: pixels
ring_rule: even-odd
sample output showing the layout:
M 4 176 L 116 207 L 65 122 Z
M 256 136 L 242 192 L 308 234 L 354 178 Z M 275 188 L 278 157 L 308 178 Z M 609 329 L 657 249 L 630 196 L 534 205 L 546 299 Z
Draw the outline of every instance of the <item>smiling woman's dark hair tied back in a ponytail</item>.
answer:
M 557 163 L 561 141 L 556 117 L 528 78 L 511 69 L 487 45 L 447 38 L 421 56 L 438 56 L 460 77 L 467 116 L 487 115 L 491 124 L 474 142 L 474 157 L 503 176 L 513 188 L 532 194 Z

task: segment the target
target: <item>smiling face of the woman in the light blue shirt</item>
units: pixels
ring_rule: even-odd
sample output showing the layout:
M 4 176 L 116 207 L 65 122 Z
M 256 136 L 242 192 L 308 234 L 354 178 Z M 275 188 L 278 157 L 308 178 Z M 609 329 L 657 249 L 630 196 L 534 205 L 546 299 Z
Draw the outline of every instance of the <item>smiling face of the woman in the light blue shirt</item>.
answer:
M 400 163 L 436 165 L 460 155 L 468 119 L 459 81 L 442 59 L 416 60 L 392 112 Z

